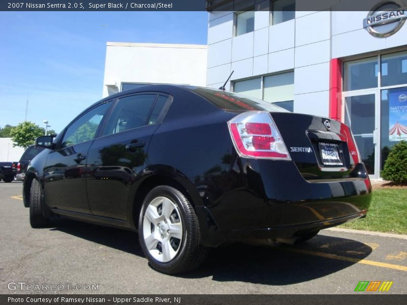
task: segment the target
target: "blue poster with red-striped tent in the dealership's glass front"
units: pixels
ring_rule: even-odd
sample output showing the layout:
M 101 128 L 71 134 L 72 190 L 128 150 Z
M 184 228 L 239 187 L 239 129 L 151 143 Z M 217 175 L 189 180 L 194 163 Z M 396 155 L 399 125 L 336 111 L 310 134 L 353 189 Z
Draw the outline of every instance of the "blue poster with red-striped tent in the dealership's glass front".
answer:
M 407 87 L 389 89 L 389 141 L 407 140 Z

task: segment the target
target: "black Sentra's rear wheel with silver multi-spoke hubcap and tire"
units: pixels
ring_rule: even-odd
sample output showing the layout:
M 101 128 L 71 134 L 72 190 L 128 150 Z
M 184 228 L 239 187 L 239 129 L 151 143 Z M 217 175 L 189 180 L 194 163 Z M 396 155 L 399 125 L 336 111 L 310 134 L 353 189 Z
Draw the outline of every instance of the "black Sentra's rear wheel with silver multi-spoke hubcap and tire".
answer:
M 158 186 L 144 198 L 139 241 L 150 265 L 163 273 L 178 274 L 198 267 L 208 249 L 202 246 L 195 211 L 179 190 Z

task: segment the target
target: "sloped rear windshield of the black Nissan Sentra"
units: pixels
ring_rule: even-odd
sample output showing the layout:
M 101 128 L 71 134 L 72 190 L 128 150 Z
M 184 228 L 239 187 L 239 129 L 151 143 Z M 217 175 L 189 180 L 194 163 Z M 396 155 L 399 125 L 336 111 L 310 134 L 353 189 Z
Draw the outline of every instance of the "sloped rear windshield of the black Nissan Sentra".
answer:
M 216 107 L 224 110 L 266 110 L 269 112 L 289 112 L 263 100 L 252 98 L 239 93 L 204 87 L 189 87 L 190 90 L 207 99 Z

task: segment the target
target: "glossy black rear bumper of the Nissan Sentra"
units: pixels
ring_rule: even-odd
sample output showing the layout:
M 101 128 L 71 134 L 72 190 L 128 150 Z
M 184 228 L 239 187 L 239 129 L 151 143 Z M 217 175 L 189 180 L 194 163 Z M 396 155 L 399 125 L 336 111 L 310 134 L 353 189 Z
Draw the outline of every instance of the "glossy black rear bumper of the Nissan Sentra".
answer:
M 370 180 L 308 182 L 293 162 L 241 159 L 240 172 L 206 178 L 198 190 L 207 246 L 291 237 L 366 216 Z M 203 196 L 202 196 L 203 195 Z

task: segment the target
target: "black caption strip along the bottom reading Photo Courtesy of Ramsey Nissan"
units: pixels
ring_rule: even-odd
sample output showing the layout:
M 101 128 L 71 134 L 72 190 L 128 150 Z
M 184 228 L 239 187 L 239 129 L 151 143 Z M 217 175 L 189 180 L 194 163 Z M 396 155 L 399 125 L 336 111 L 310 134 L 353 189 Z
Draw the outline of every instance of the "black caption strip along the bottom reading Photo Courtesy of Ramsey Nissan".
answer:
M 136 287 L 135 287 L 136 289 Z M 310 291 L 311 292 L 311 291 Z M 407 303 L 406 295 L 402 294 L 387 294 L 381 292 L 379 294 L 360 293 L 355 294 L 168 294 L 168 295 L 154 295 L 154 294 L 90 294 L 90 295 L 73 295 L 73 294 L 22 294 L 22 295 L 0 295 L 0 305 L 194 305 L 194 304 L 312 304 L 312 305 L 336 305 L 336 304 L 360 304 L 360 305 L 401 305 Z

